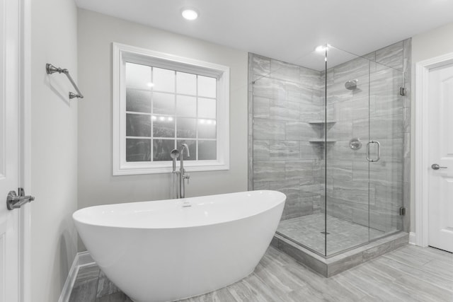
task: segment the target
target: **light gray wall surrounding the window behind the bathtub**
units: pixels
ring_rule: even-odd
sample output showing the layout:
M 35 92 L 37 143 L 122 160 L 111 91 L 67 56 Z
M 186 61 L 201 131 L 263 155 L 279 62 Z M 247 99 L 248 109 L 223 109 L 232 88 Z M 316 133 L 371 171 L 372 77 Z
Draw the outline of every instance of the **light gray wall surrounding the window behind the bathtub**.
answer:
M 112 176 L 112 42 L 223 64 L 230 74 L 230 170 L 190 173 L 188 197 L 247 190 L 247 53 L 79 9 L 79 208 L 168 199 L 171 174 Z M 79 250 L 84 250 L 83 245 Z

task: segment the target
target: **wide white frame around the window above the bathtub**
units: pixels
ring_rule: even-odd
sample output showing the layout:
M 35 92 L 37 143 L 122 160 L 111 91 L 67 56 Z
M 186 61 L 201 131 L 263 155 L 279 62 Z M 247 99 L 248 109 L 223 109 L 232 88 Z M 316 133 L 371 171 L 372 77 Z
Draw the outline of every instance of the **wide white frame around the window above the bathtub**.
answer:
M 126 161 L 126 62 L 217 79 L 217 160 L 185 161 L 190 171 L 229 170 L 229 67 L 113 42 L 113 175 L 171 173 L 171 161 Z

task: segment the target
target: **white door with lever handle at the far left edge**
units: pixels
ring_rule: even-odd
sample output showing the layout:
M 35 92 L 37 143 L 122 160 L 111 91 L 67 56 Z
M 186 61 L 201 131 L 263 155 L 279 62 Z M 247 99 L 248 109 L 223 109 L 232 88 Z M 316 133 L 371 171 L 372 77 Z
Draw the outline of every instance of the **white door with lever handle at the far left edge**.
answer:
M 0 0 L 0 301 L 18 301 L 18 0 Z

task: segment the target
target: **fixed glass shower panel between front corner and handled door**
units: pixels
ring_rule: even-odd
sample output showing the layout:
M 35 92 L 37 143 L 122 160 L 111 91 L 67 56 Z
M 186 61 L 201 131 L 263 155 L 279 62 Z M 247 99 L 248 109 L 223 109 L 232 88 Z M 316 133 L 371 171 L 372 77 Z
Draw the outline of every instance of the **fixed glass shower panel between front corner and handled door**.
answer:
M 369 71 L 363 57 L 328 51 L 326 255 L 369 242 Z M 338 63 L 340 62 L 340 63 Z

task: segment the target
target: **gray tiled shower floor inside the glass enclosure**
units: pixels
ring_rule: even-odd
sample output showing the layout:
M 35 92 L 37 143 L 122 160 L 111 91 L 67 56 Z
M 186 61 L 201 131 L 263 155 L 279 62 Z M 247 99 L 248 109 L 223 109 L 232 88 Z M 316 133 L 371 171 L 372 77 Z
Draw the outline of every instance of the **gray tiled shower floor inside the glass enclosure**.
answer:
M 367 243 L 368 238 L 379 238 L 384 235 L 383 231 L 330 215 L 327 215 L 327 230 L 325 228 L 324 214 L 319 213 L 282 220 L 277 232 L 322 255 L 326 248 L 324 243 L 326 235 L 322 233 L 324 231 L 327 231 L 327 255 Z

